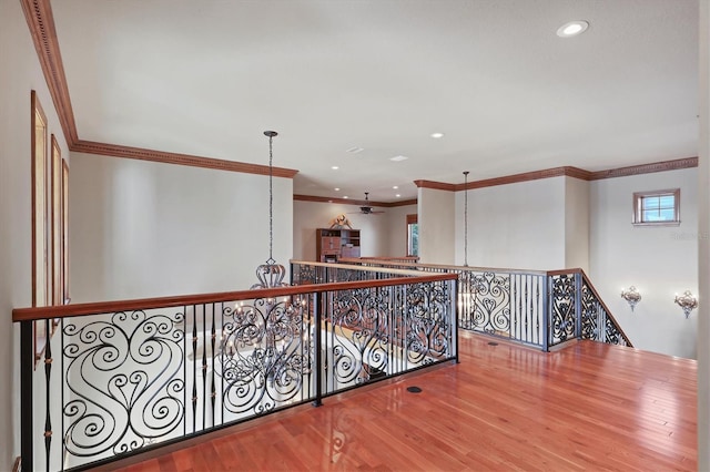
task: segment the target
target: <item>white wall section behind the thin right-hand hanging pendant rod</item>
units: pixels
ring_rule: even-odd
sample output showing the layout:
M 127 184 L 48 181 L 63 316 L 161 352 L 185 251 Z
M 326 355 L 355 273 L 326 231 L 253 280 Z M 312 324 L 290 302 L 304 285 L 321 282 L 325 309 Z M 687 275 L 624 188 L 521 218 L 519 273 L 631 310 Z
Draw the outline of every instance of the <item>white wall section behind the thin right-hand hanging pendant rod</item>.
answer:
M 565 183 L 552 177 L 468 191 L 468 265 L 565 268 Z M 456 264 L 464 264 L 465 192 L 456 192 Z

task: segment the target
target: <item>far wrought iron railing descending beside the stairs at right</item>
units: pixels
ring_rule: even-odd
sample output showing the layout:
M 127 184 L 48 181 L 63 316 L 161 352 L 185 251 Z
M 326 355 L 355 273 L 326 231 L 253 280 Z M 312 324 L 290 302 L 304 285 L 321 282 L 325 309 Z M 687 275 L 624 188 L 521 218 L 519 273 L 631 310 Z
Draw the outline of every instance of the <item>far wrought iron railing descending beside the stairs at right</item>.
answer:
M 406 264 L 366 258 L 343 264 L 458 277 L 458 326 L 542 350 L 572 339 L 632 347 L 581 269 L 554 271 Z

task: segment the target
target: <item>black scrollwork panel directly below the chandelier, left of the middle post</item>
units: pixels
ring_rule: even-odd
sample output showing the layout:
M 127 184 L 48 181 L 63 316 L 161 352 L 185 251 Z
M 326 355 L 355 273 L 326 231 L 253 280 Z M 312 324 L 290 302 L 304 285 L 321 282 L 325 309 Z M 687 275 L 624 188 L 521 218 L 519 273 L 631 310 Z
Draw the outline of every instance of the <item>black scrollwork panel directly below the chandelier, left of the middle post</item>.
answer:
M 226 411 L 265 413 L 302 391 L 312 369 L 304 311 L 300 302 L 272 298 L 224 308 L 215 370 Z

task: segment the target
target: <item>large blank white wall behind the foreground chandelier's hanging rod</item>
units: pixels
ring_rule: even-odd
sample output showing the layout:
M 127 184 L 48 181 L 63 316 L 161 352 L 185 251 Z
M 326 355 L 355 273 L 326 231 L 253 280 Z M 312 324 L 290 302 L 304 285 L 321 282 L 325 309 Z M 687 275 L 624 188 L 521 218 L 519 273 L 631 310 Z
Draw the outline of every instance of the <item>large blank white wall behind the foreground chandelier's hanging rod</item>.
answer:
M 293 181 L 273 183 L 287 268 Z M 248 289 L 268 258 L 268 177 L 74 153 L 70 227 L 75 302 Z

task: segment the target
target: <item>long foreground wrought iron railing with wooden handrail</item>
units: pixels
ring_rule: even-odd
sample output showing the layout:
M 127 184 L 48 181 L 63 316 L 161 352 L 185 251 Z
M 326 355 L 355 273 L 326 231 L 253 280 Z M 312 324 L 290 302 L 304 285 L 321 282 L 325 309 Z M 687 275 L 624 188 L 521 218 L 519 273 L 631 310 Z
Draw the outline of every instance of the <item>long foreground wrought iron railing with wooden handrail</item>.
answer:
M 454 276 L 419 274 L 16 309 L 22 469 L 105 464 L 456 360 L 455 299 Z M 55 321 L 33 371 L 32 324 Z

